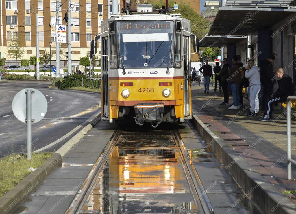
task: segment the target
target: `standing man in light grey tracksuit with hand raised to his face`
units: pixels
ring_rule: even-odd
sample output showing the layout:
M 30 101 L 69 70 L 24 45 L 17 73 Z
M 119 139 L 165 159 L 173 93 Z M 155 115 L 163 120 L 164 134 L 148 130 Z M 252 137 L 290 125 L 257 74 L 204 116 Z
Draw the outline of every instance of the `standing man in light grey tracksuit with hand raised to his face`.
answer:
M 248 61 L 248 66 L 245 71 L 245 77 L 249 78 L 250 82 L 250 112 L 247 116 L 259 116 L 259 91 L 260 87 L 260 73 L 259 68 L 254 65 L 254 60 Z

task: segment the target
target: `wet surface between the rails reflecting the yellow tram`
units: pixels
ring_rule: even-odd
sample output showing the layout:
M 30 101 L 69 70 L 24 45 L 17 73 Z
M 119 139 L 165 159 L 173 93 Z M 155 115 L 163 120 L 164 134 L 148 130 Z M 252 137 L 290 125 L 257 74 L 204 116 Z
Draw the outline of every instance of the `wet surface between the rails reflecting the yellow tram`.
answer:
M 172 133 L 122 131 L 80 213 L 200 213 Z

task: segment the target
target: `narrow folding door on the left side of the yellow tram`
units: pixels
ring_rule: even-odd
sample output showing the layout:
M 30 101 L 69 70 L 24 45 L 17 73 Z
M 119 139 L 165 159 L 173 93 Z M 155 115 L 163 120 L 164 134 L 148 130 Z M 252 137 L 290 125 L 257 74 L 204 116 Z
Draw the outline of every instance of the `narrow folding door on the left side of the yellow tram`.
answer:
M 108 37 L 102 37 L 102 55 L 108 55 Z M 107 56 L 102 56 L 102 96 L 103 96 L 103 115 L 102 118 L 109 118 L 109 96 L 108 96 L 108 59 Z

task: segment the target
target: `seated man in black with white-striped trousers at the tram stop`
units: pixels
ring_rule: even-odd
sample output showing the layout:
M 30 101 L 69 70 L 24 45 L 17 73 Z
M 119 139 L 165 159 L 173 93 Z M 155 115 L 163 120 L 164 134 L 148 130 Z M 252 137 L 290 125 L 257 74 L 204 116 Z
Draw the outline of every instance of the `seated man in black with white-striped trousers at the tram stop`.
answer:
M 279 89 L 271 95 L 268 102 L 266 103 L 266 110 L 261 121 L 270 121 L 271 120 L 271 105 L 278 102 L 287 101 L 288 96 L 294 94 L 294 85 L 292 83 L 292 78 L 284 73 L 284 69 L 279 68 L 276 71 L 276 76 L 280 78 Z

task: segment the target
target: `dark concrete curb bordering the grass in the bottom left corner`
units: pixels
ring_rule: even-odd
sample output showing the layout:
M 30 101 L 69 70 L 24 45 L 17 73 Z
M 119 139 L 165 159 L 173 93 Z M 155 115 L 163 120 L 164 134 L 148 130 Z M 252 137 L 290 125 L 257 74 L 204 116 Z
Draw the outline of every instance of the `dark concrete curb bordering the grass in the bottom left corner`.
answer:
M 55 168 L 61 165 L 61 155 L 54 153 L 52 157 L 0 198 L 0 214 L 12 213 Z

